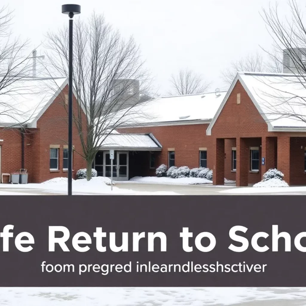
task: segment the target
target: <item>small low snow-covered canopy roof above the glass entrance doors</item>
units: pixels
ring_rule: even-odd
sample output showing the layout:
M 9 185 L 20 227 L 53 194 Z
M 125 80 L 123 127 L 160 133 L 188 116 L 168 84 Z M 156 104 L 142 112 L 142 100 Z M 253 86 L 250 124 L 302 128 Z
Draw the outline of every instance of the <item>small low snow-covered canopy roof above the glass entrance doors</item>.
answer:
M 162 145 L 150 134 L 109 134 L 100 147 L 102 150 L 133 150 L 133 151 L 160 151 Z

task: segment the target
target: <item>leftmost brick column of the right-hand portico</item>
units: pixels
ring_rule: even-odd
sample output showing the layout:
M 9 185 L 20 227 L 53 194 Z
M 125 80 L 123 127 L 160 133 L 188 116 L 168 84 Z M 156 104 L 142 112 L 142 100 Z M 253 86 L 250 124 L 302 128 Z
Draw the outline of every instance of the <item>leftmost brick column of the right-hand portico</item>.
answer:
M 224 138 L 214 140 L 213 184 L 224 185 Z

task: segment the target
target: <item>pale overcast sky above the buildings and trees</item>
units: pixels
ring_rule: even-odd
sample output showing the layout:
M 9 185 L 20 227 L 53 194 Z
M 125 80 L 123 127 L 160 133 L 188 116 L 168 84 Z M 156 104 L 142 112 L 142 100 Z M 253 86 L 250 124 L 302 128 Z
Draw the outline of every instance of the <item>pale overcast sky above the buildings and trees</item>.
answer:
M 3 2 L 3 0 L 2 0 Z M 306 2 L 297 0 L 304 9 Z M 14 33 L 38 46 L 48 30 L 56 31 L 68 17 L 61 13 L 63 0 L 4 0 L 15 10 Z M 248 54 L 271 47 L 272 39 L 263 19 L 268 0 L 76 0 L 86 18 L 93 10 L 122 35 L 133 35 L 140 44 L 146 65 L 155 78 L 159 94 L 170 89 L 169 78 L 189 68 L 211 82 L 210 91 L 224 88 L 220 72 Z M 286 0 L 279 0 L 288 13 Z M 38 54 L 40 55 L 40 54 Z

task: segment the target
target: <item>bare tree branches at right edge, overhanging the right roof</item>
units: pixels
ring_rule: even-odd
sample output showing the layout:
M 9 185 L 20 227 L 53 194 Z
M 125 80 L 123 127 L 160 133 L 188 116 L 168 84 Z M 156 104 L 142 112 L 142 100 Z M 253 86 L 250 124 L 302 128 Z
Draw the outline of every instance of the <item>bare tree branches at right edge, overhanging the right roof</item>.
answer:
M 306 122 L 306 28 L 297 2 L 289 0 L 288 5 L 290 17 L 287 16 L 284 20 L 279 15 L 277 4 L 264 9 L 262 14 L 273 38 L 275 50 L 287 55 L 287 60 L 282 63 L 283 68 L 291 73 L 291 76 L 282 75 L 278 78 L 278 83 L 269 85 L 267 91 L 270 94 L 266 94 L 266 104 L 271 117 L 294 118 Z M 279 84 L 283 86 L 280 87 Z M 290 87 L 286 86 L 288 84 L 291 84 Z M 273 90 L 274 88 L 278 90 Z M 288 88 L 292 92 L 288 92 Z

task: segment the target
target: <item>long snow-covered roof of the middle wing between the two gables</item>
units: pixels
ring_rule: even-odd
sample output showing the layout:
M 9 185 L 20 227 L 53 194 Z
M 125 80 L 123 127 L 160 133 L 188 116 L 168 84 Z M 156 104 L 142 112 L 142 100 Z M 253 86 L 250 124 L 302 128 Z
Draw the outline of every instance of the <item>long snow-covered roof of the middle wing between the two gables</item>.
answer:
M 125 116 L 126 124 L 123 123 L 122 125 L 150 126 L 209 123 L 225 95 L 226 91 L 220 91 L 160 97 L 134 106 L 130 111 L 131 114 Z

